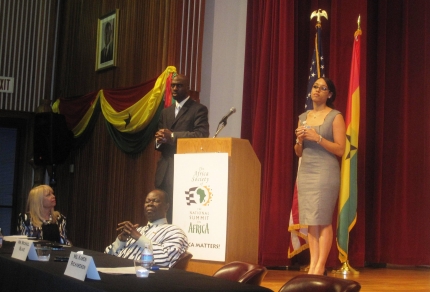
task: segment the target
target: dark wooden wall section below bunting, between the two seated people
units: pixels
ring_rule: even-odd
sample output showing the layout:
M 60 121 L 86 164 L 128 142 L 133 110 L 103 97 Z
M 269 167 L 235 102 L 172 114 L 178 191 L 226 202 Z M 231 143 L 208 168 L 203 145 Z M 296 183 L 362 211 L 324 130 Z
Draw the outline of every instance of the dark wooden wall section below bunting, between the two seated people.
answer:
M 115 239 L 117 223 L 146 222 L 143 204 L 154 188 L 159 157 L 152 146 L 138 155 L 124 154 L 100 115 L 90 140 L 57 166 L 57 209 L 67 216 L 75 245 L 103 251 Z

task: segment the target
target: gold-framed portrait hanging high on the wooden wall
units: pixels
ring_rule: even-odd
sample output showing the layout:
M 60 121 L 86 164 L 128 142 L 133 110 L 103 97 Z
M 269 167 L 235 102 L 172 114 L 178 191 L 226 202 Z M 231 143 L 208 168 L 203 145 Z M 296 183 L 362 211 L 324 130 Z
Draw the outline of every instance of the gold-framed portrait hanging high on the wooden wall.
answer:
M 98 19 L 96 71 L 116 66 L 119 9 Z

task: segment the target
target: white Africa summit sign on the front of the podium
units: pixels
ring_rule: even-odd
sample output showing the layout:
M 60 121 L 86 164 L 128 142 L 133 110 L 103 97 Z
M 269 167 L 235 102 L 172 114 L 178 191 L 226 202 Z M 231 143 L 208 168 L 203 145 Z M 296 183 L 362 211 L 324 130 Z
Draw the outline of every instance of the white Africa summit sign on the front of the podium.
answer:
M 175 154 L 173 224 L 188 236 L 193 259 L 225 261 L 228 154 Z

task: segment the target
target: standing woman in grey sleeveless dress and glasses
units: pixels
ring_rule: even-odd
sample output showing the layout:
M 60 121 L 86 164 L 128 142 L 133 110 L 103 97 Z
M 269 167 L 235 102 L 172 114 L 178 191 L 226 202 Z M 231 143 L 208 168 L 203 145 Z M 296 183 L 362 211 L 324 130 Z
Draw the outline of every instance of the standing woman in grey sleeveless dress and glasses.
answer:
M 322 275 L 333 241 L 331 222 L 340 187 L 337 157 L 345 151 L 346 130 L 341 113 L 333 109 L 336 88 L 330 79 L 315 81 L 311 98 L 313 109 L 299 116 L 294 151 L 302 158 L 297 187 L 300 224 L 308 225 L 309 274 Z

